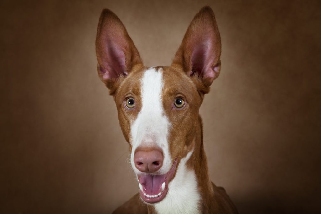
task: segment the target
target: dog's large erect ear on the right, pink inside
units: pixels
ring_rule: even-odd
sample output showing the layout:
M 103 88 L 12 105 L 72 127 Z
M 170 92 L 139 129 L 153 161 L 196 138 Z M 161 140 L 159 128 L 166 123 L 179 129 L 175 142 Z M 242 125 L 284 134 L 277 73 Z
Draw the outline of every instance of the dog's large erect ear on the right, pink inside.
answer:
M 220 74 L 221 37 L 209 6 L 203 7 L 190 23 L 172 65 L 179 65 L 188 76 L 201 79 L 203 93 Z

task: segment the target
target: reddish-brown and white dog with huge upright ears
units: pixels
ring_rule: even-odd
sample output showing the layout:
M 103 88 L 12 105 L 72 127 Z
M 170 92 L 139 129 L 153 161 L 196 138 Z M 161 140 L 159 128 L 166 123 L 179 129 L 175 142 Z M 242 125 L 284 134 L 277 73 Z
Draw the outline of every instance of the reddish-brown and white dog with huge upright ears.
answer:
M 212 9 L 205 6 L 195 15 L 172 64 L 155 67 L 143 65 L 123 23 L 104 9 L 96 55 L 139 186 L 114 213 L 238 213 L 225 190 L 210 181 L 199 115 L 221 70 Z

